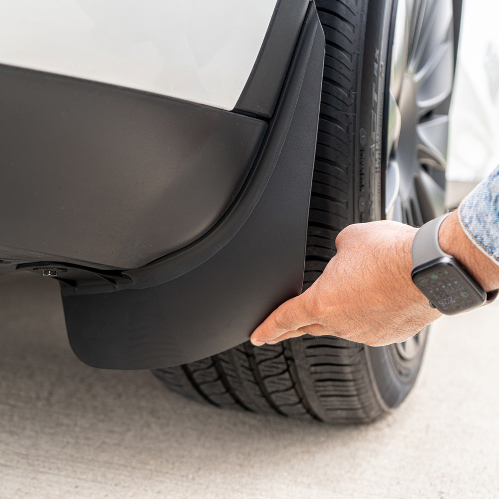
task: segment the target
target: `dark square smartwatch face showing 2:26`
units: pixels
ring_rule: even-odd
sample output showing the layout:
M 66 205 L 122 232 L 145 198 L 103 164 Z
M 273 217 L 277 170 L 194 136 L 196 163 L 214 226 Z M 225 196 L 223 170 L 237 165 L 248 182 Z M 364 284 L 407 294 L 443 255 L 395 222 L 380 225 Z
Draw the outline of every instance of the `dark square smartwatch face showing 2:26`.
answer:
M 487 295 L 461 265 L 450 258 L 418 267 L 412 274 L 416 286 L 435 308 L 452 315 L 484 304 Z

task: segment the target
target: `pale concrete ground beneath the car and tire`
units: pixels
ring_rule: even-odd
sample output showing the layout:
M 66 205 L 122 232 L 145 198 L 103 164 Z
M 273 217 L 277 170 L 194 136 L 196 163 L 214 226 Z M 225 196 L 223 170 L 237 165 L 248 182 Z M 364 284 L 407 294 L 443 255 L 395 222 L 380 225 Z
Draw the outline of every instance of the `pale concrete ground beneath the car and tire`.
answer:
M 83 365 L 50 279 L 3 281 L 0 303 L 1 499 L 499 495 L 499 303 L 439 320 L 402 407 L 340 428 L 205 407 L 147 371 Z

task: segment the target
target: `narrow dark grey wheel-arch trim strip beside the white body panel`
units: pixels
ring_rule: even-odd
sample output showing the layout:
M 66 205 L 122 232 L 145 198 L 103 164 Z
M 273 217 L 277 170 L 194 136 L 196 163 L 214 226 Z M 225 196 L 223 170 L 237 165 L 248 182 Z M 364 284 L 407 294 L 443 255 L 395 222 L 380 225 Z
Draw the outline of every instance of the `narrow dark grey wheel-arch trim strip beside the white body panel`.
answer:
M 309 0 L 277 1 L 235 111 L 265 119 L 272 116 L 309 3 Z

